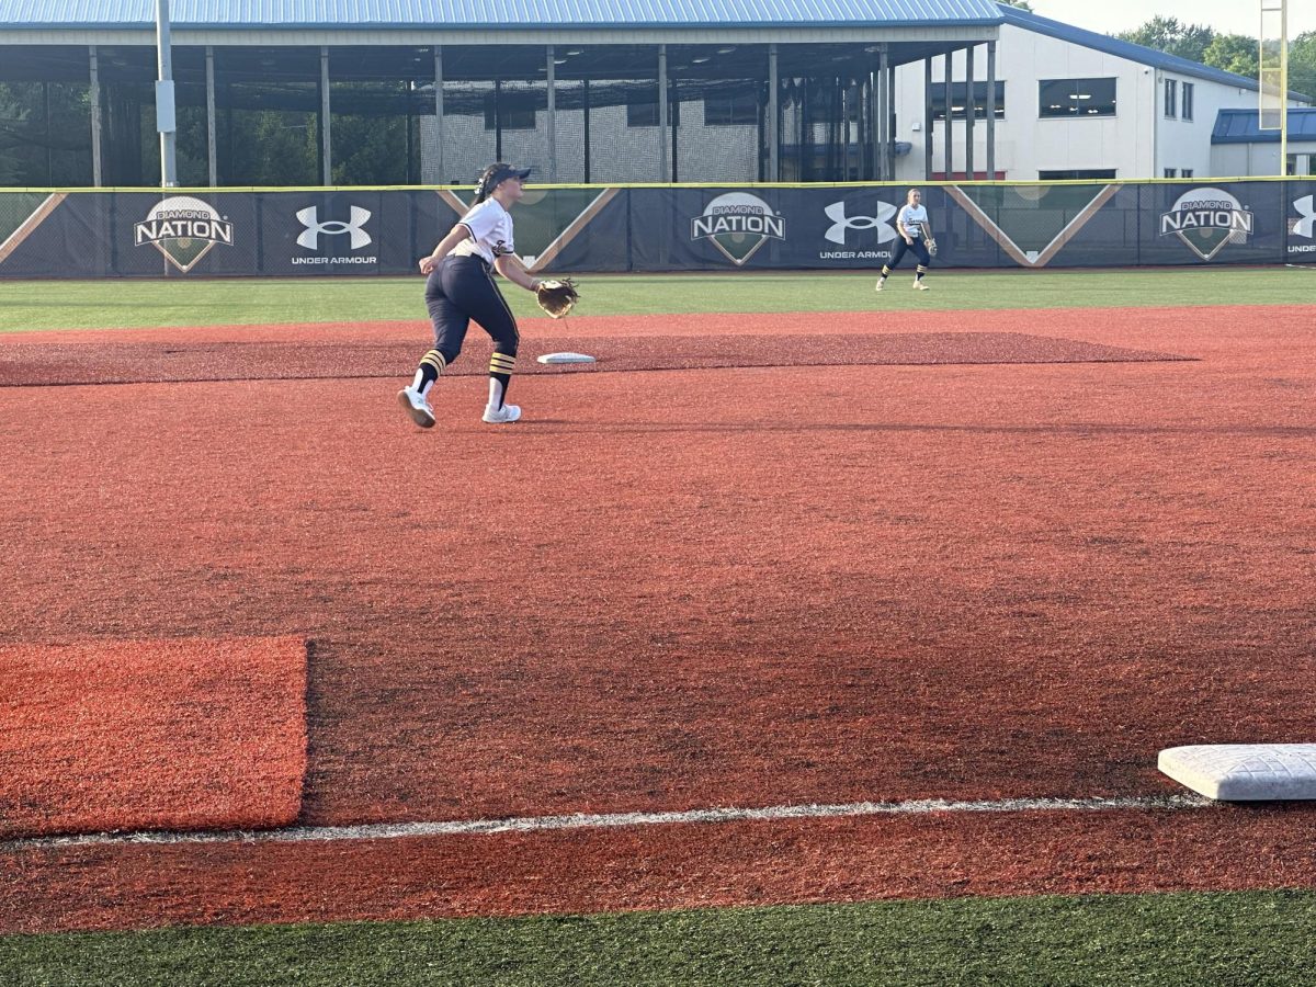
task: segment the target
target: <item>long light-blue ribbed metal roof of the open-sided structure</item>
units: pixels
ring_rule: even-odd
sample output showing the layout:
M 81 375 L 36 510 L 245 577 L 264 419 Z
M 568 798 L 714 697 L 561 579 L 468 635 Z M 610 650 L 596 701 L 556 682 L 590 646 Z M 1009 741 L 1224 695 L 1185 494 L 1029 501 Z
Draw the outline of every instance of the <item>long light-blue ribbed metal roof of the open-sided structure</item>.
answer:
M 179 28 L 995 25 L 994 0 L 172 0 Z M 143 28 L 154 0 L 0 0 L 0 28 Z

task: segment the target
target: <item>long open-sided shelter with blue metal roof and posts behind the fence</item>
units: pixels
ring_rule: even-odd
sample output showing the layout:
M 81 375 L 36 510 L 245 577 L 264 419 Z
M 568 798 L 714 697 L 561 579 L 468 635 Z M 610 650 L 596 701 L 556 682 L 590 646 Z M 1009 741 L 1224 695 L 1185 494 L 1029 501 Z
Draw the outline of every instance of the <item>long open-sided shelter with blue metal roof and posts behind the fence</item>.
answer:
M 923 63 L 930 134 L 932 59 L 967 53 L 994 93 L 1003 22 L 992 0 L 171 8 L 179 184 L 225 187 L 465 184 L 495 158 L 559 183 L 892 179 L 896 67 Z M 159 184 L 155 42 L 153 0 L 0 4 L 0 184 Z

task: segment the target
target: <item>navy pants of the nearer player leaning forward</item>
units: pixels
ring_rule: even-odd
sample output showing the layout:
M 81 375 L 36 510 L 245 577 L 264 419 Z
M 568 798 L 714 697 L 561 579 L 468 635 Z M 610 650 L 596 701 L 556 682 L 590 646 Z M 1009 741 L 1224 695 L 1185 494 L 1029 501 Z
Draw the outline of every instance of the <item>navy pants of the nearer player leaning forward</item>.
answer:
M 445 257 L 425 282 L 425 307 L 434 324 L 434 349 L 446 366 L 462 351 L 472 318 L 494 337 L 495 353 L 516 355 L 521 333 L 483 258 Z

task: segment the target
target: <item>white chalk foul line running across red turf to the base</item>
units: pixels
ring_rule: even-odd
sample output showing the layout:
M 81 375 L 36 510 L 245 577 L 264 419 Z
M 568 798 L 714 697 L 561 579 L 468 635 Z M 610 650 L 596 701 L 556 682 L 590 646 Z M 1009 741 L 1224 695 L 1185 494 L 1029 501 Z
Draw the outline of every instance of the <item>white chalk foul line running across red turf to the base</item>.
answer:
M 1199 795 L 1150 795 L 1123 799 L 1003 799 L 999 801 L 855 801 L 837 805 L 770 805 L 767 808 L 712 808 L 684 812 L 612 812 L 604 815 L 522 816 L 512 819 L 453 820 L 447 822 L 375 822 L 351 826 L 287 826 L 265 830 L 137 832 L 50 836 L 0 842 L 0 851 L 149 844 L 297 844 L 333 840 L 401 840 L 430 836 L 490 836 L 563 829 L 619 829 L 624 826 L 716 825 L 776 820 L 829 820 L 854 816 L 926 816 L 938 812 L 1101 812 L 1115 809 L 1200 809 L 1215 803 Z

